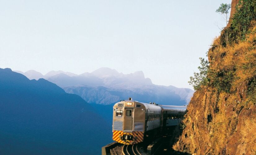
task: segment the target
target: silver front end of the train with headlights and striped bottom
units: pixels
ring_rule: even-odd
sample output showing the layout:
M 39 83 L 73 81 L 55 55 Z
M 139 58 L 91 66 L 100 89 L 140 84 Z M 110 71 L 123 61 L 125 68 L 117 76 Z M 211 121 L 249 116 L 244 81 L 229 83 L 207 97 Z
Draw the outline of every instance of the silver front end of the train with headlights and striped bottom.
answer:
M 127 100 L 113 107 L 113 137 L 121 144 L 143 142 L 145 129 L 145 106 L 139 102 Z

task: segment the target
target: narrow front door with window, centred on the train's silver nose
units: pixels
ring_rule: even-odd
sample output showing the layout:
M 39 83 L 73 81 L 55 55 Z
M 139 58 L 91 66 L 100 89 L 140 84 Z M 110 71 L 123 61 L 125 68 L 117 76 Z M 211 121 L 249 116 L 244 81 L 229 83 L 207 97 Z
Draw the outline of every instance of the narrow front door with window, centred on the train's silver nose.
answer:
M 124 130 L 133 129 L 133 108 L 124 108 Z

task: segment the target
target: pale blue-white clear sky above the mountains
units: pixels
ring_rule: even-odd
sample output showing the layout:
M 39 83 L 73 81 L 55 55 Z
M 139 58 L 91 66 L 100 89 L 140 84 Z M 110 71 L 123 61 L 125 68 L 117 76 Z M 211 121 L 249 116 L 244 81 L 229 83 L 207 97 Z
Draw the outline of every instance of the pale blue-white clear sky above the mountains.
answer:
M 0 0 L 0 68 L 81 74 L 143 71 L 154 84 L 193 88 L 231 0 Z

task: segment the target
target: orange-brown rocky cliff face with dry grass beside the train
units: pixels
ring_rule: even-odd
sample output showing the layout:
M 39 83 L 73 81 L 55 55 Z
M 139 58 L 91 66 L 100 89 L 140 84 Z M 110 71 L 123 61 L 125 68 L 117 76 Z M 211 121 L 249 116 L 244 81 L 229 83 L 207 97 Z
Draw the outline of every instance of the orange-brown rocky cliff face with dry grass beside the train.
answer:
M 232 14 L 237 0 L 232 1 Z M 255 4 L 256 8 L 256 4 Z M 232 22 L 232 21 L 230 21 Z M 256 154 L 256 26 L 246 39 L 208 52 L 210 82 L 194 93 L 173 149 L 191 154 Z

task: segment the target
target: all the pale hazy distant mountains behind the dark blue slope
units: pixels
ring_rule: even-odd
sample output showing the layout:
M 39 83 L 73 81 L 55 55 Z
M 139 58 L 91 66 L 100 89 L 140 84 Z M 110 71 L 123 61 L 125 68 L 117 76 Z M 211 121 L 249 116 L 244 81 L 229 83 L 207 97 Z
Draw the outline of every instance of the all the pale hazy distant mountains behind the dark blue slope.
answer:
M 115 69 L 100 68 L 80 75 L 64 71 L 51 71 L 45 75 L 34 70 L 15 72 L 29 79 L 44 78 L 92 104 L 113 104 L 132 97 L 140 102 L 184 105 L 189 103 L 194 93 L 188 88 L 155 85 L 150 78 L 145 78 L 142 71 L 123 74 Z

